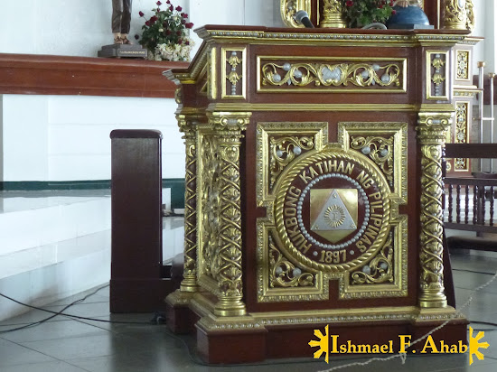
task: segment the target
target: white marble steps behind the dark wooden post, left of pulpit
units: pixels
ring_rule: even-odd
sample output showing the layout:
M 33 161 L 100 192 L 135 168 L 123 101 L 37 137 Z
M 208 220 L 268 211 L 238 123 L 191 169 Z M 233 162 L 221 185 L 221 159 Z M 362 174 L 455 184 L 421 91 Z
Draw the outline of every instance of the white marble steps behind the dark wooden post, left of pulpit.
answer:
M 167 196 L 164 196 L 167 207 Z M 0 293 L 21 302 L 42 306 L 108 283 L 111 256 L 110 198 L 105 195 L 84 197 L 89 199 L 81 196 L 73 198 L 8 200 L 7 203 L 5 199 L 9 198 L 3 199 L 0 250 L 4 253 L 0 255 Z M 61 215 L 71 220 L 61 220 Z M 43 224 L 51 233 L 39 226 L 30 229 L 29 221 Z M 163 258 L 168 261 L 183 252 L 183 217 L 165 218 L 163 227 Z M 70 229 L 70 233 L 64 231 L 66 228 Z M 23 233 L 29 237 L 16 237 Z M 70 235 L 75 236 L 57 240 Z M 17 249 L 5 246 L 12 242 L 17 245 Z M 46 243 L 30 246 L 36 242 Z M 0 321 L 28 310 L 0 298 Z

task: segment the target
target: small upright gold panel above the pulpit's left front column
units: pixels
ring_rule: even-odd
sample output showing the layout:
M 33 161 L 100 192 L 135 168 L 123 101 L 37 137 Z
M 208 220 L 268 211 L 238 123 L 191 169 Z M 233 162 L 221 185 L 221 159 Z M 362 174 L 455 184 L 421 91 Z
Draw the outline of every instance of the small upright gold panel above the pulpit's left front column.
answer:
M 247 98 L 247 48 L 223 47 L 220 50 L 222 99 Z

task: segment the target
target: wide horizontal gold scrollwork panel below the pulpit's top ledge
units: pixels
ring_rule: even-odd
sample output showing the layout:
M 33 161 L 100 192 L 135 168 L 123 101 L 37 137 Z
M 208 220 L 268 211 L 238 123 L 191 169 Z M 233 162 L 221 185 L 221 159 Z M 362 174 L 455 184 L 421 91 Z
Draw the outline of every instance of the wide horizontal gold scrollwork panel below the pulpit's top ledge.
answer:
M 258 56 L 258 92 L 404 93 L 407 60 Z

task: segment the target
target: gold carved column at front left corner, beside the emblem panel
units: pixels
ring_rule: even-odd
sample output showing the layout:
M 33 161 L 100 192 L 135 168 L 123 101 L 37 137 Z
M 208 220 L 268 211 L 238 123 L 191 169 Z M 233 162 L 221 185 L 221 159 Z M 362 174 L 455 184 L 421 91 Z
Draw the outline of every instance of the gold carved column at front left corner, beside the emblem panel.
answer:
M 215 255 L 211 256 L 211 274 L 217 281 L 218 302 L 214 314 L 245 315 L 242 302 L 242 246 L 240 145 L 251 113 L 208 113 L 212 135 L 217 139 L 219 176 L 219 224 Z M 203 192 L 203 191 L 202 191 Z

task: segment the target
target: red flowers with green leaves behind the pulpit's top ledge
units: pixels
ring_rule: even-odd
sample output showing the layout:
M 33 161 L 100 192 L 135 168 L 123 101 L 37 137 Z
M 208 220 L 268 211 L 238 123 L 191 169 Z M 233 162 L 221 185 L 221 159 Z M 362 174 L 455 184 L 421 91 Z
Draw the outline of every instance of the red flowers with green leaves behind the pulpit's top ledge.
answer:
M 347 27 L 361 27 L 370 23 L 385 23 L 395 14 L 393 0 L 342 0 Z

